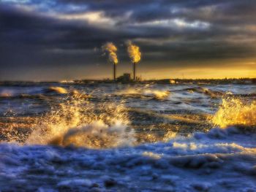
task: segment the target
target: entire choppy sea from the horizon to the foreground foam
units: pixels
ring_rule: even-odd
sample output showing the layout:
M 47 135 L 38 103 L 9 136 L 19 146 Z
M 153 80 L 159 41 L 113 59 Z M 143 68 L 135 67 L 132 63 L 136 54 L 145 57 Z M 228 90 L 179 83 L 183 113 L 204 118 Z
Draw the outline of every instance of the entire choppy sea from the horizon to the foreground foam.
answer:
M 0 191 L 256 191 L 256 85 L 0 86 Z

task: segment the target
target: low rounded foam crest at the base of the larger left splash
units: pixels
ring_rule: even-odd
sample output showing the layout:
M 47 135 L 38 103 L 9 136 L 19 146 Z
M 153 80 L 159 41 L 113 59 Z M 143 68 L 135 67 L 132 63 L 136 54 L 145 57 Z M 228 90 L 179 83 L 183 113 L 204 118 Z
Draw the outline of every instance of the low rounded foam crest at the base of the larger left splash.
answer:
M 86 148 L 123 147 L 134 143 L 133 131 L 127 131 L 125 123 L 116 121 L 112 126 L 108 126 L 100 120 L 86 126 L 69 128 L 66 133 L 48 142 L 50 145 L 75 145 Z

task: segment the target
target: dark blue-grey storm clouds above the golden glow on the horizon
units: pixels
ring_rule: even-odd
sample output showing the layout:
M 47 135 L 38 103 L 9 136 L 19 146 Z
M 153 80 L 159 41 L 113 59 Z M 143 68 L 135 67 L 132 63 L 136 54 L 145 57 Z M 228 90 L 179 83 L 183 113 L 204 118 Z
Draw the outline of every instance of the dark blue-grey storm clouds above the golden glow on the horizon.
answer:
M 254 18 L 256 1 L 249 0 L 4 0 L 1 72 L 103 63 L 95 47 L 105 42 L 119 45 L 119 57 L 128 61 L 122 47 L 128 39 L 148 63 L 255 59 Z

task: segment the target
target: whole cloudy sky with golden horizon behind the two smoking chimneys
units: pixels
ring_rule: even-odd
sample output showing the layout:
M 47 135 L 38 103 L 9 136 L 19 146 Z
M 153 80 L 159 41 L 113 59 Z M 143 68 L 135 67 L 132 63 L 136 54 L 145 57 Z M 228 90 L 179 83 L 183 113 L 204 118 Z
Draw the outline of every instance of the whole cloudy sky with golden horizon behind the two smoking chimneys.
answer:
M 256 77 L 255 0 L 0 0 L 0 80 Z

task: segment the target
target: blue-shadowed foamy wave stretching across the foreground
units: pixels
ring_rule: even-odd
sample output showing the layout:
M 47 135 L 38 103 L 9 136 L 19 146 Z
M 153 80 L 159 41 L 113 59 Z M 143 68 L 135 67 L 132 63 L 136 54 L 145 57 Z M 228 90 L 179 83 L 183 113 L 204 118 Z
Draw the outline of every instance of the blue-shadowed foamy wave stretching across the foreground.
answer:
M 1 189 L 255 191 L 256 135 L 225 131 L 108 150 L 1 144 Z

